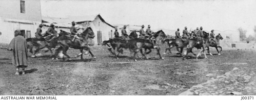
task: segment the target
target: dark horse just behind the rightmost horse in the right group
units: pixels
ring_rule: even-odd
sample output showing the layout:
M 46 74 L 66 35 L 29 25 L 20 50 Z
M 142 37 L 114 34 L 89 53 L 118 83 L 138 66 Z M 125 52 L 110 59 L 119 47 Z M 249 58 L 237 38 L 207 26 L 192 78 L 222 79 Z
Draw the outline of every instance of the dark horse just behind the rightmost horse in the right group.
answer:
M 197 49 L 201 49 L 199 54 L 196 56 L 196 60 L 201 55 L 201 52 L 204 52 L 205 59 L 208 59 L 206 57 L 205 50 L 209 50 L 210 46 L 210 39 L 209 39 L 209 33 L 203 32 L 202 40 L 201 37 L 196 37 L 194 39 L 188 39 L 188 48 L 187 51 L 184 53 L 183 60 L 186 59 L 188 53 L 192 53 L 192 48 L 195 47 Z M 203 42 L 204 40 L 204 42 Z M 208 51 L 209 52 L 209 51 Z

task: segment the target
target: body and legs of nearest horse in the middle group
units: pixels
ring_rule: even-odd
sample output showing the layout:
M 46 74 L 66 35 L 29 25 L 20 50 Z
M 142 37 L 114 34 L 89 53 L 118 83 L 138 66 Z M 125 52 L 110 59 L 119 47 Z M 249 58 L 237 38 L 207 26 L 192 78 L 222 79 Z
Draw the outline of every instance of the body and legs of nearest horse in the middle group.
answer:
M 141 38 L 135 38 L 135 39 L 128 40 L 127 46 L 131 52 L 134 52 L 134 55 L 133 55 L 134 61 L 137 61 L 135 57 L 137 56 L 137 53 L 139 51 L 141 52 L 142 56 L 144 56 L 146 59 L 148 59 L 145 56 L 145 54 L 143 53 L 142 48 L 149 48 L 149 49 L 154 48 L 151 40 L 141 39 Z M 160 54 L 160 47 L 156 47 L 156 50 L 157 50 L 157 55 L 159 55 L 160 59 L 164 59 Z

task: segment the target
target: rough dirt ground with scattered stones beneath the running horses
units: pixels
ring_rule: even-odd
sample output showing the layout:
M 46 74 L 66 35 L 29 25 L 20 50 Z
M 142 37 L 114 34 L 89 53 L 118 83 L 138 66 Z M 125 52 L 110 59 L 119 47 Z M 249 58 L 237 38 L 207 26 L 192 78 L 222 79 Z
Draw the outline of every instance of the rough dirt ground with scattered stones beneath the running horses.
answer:
M 175 49 L 172 52 L 176 53 Z M 175 54 L 163 55 L 165 60 L 159 60 L 153 50 L 147 55 L 149 60 L 137 62 L 133 62 L 128 50 L 115 59 L 106 46 L 92 48 L 97 59 L 85 55 L 84 60 L 52 61 L 50 53 L 41 52 L 41 57 L 29 57 L 25 75 L 14 75 L 12 53 L 0 49 L 0 95 L 256 95 L 248 88 L 256 84 L 255 50 L 224 49 L 221 56 L 215 49 L 211 52 L 213 56 L 208 55 L 208 60 L 203 56 L 182 60 Z M 68 50 L 71 57 L 78 53 Z M 234 84 L 237 87 L 228 88 Z

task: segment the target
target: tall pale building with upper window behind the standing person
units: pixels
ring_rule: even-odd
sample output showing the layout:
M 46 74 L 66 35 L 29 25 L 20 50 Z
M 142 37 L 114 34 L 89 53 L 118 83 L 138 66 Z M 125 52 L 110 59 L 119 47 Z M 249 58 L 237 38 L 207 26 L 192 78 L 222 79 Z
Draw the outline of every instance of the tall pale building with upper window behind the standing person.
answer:
M 35 36 L 41 22 L 40 1 L 0 1 L 0 43 L 9 43 L 14 38 L 15 30 L 21 30 L 25 38 Z

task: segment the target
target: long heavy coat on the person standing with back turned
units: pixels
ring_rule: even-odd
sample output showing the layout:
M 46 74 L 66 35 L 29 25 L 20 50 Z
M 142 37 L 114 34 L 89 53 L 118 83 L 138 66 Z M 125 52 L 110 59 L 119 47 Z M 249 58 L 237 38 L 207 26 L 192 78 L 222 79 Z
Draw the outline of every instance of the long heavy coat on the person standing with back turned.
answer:
M 12 64 L 15 66 L 28 66 L 28 49 L 26 39 L 18 35 L 14 37 L 9 44 L 8 49 L 12 50 Z

